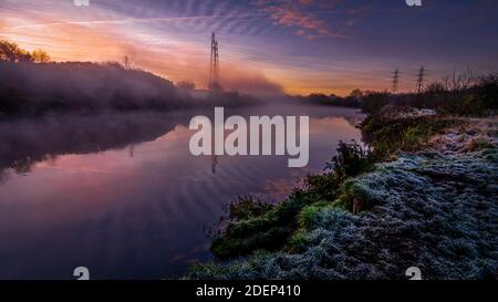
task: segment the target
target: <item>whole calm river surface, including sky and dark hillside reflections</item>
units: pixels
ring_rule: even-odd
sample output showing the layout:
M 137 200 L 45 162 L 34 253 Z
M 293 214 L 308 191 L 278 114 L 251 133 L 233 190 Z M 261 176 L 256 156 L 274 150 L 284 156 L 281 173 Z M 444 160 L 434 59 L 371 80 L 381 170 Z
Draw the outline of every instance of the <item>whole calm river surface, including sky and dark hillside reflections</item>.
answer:
M 0 278 L 157 279 L 210 258 L 204 227 L 224 205 L 252 194 L 286 197 L 321 171 L 340 139 L 361 140 L 356 110 L 281 104 L 230 115 L 309 115 L 310 163 L 286 156 L 200 156 L 188 149 L 193 116 L 106 113 L 0 123 Z

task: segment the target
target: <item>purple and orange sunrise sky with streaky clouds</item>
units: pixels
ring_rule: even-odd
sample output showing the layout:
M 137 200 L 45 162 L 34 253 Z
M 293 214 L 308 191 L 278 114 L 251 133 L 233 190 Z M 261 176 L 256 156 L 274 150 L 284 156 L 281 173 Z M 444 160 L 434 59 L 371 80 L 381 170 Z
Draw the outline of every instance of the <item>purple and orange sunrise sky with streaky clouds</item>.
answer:
M 498 69 L 498 1 L 422 0 L 0 0 L 0 39 L 54 61 L 118 61 L 205 88 L 210 34 L 225 87 L 347 95 L 402 91 L 471 69 Z

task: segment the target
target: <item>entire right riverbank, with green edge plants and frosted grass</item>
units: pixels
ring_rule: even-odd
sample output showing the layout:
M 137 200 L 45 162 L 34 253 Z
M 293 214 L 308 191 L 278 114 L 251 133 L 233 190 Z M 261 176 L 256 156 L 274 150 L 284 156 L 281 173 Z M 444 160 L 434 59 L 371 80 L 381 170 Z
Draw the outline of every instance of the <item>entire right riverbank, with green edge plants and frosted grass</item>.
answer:
M 424 279 L 498 275 L 496 117 L 386 110 L 329 169 L 277 206 L 229 207 L 189 279 Z

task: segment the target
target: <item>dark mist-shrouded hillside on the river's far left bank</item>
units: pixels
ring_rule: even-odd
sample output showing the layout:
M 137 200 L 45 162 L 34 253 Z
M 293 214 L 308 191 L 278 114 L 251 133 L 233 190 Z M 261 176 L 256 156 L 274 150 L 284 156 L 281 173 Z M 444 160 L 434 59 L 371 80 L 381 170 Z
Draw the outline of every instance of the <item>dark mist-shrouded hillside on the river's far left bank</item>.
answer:
M 194 97 L 188 90 L 118 63 L 0 62 L 0 116 L 45 112 L 173 111 L 257 102 L 236 92 Z

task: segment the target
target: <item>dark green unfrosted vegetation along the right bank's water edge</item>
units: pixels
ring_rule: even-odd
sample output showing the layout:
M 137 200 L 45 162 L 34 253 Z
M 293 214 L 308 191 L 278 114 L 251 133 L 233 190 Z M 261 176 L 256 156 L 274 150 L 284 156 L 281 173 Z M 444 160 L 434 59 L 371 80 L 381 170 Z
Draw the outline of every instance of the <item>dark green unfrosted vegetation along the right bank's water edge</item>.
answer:
M 359 144 L 341 142 L 338 155 L 326 164 L 328 173 L 309 176 L 304 179 L 304 188 L 294 189 L 282 202 L 264 206 L 246 197 L 229 205 L 228 216 L 221 219 L 212 240 L 212 254 L 218 259 L 229 259 L 258 249 L 299 249 L 293 244 L 294 233 L 309 223 L 320 207 L 335 200 L 341 184 L 372 166 L 371 157 Z

